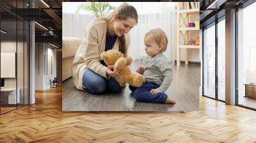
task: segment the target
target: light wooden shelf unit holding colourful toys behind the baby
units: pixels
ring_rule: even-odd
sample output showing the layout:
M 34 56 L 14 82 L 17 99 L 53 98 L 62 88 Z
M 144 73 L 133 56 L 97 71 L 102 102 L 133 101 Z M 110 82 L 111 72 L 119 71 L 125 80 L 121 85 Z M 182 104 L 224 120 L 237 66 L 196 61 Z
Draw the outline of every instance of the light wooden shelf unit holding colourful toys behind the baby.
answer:
M 177 6 L 177 66 L 180 66 L 180 49 L 186 50 L 185 64 L 189 64 L 189 49 L 200 49 L 200 45 L 184 45 L 184 41 L 188 41 L 191 38 L 189 37 L 191 32 L 196 32 L 198 36 L 200 34 L 200 27 L 186 27 L 188 22 L 195 22 L 195 20 L 189 21 L 189 15 L 198 15 L 199 18 L 200 10 L 199 8 L 183 10 L 181 8 L 182 3 L 186 4 L 189 2 L 180 2 Z

